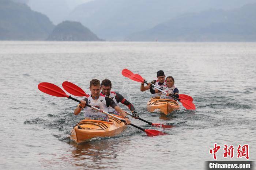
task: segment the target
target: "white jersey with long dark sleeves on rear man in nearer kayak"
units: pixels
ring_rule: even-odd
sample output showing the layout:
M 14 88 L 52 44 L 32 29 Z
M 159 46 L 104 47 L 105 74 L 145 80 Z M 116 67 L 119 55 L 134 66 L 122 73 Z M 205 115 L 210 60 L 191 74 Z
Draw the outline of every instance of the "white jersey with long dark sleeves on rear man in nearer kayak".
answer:
M 116 105 L 119 106 L 119 102 L 121 102 L 122 104 L 126 105 L 130 109 L 130 111 L 132 112 L 135 111 L 135 108 L 133 107 L 133 105 L 128 100 L 126 100 L 121 94 L 116 92 L 110 92 L 108 97 L 111 98 Z M 120 113 L 118 113 L 113 107 L 110 106 L 108 109 L 109 109 L 108 112 L 110 114 L 120 115 Z

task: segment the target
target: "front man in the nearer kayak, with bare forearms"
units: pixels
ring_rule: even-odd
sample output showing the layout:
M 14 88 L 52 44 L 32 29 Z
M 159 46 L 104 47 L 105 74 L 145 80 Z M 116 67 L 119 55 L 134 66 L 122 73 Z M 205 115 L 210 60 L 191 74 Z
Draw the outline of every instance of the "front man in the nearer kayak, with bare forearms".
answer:
M 111 98 L 100 93 L 101 83 L 97 79 L 90 81 L 91 96 L 84 98 L 80 101 L 78 107 L 74 111 L 74 115 L 78 115 L 84 108 L 84 119 L 109 121 L 108 116 L 98 112 L 90 107 L 86 107 L 86 104 L 90 104 L 102 111 L 108 112 L 108 107 L 114 108 L 124 118 L 125 124 L 131 124 L 131 121 L 126 117 L 125 111 L 123 111 Z

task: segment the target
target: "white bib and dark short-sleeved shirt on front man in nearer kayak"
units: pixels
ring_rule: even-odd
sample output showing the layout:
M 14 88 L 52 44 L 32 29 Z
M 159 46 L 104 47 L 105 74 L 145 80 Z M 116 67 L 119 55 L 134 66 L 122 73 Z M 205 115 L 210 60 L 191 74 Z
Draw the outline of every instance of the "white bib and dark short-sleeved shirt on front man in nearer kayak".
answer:
M 97 100 L 94 100 L 91 96 L 84 98 L 83 100 L 86 101 L 86 104 L 90 104 L 91 106 L 101 109 L 104 112 L 108 112 L 109 107 L 114 108 L 117 106 L 117 104 L 111 98 L 109 98 L 108 96 L 105 96 L 102 93 L 100 94 Z M 84 108 L 84 117 L 93 119 L 93 120 L 109 121 L 108 115 L 98 112 L 97 110 L 94 110 L 90 107 Z

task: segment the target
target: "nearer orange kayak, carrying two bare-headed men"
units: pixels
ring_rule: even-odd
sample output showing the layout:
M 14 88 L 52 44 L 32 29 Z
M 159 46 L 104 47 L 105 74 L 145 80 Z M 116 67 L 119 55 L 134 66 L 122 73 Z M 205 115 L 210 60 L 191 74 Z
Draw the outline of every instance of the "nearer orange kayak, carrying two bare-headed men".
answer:
M 70 139 L 76 143 L 82 143 L 95 137 L 116 136 L 124 131 L 126 127 L 127 125 L 122 121 L 110 116 L 109 121 L 84 119 L 74 126 Z

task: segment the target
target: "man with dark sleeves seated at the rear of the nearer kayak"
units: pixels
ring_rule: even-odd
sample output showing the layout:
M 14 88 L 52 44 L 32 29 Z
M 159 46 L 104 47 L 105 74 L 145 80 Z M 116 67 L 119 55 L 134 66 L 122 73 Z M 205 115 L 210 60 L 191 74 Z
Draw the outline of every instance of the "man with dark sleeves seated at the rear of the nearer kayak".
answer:
M 130 111 L 132 112 L 133 117 L 135 119 L 138 119 L 139 115 L 135 111 L 135 108 L 133 107 L 133 105 L 128 100 L 126 100 L 121 94 L 116 93 L 116 92 L 112 92 L 111 88 L 112 88 L 112 83 L 111 83 L 110 80 L 108 80 L 108 79 L 102 80 L 102 82 L 101 82 L 102 92 L 101 93 L 104 94 L 105 96 L 108 96 L 108 97 L 112 98 L 117 105 L 118 105 L 119 102 L 126 105 L 130 109 Z M 109 113 L 114 114 L 114 115 L 120 115 L 120 113 L 118 113 L 112 107 L 109 107 Z

